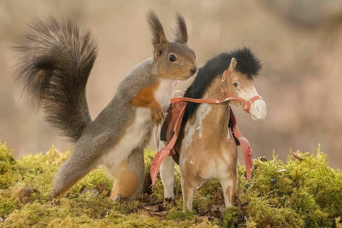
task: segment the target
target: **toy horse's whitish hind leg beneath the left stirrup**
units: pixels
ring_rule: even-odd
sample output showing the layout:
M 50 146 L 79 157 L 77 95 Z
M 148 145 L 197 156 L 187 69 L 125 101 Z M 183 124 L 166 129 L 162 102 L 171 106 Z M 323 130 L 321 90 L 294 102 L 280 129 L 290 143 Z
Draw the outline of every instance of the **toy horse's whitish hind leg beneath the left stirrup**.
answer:
M 160 166 L 160 177 L 164 186 L 164 198 L 174 197 L 173 192 L 173 173 L 174 161 L 171 157 L 167 157 Z

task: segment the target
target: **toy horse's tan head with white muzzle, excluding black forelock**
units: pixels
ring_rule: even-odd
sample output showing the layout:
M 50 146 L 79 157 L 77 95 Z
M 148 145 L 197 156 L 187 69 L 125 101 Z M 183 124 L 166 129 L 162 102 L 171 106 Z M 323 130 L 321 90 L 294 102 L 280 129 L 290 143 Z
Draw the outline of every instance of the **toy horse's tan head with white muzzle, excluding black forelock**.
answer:
M 253 120 L 265 119 L 266 104 L 262 98 L 256 97 L 259 94 L 254 87 L 253 77 L 247 73 L 243 73 L 243 71 L 241 72 L 235 58 L 232 58 L 224 80 L 227 91 L 231 91 L 235 96 L 245 99 L 249 103 L 248 105 L 250 107 L 248 112 L 251 114 Z M 231 103 L 246 108 L 246 105 L 239 100 L 231 100 Z

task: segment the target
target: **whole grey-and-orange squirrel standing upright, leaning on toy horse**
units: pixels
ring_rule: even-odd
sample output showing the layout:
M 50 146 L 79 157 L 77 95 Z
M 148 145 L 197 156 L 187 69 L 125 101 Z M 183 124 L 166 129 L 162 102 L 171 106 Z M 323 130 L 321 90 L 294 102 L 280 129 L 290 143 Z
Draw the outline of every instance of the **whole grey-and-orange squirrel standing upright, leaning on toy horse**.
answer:
M 176 14 L 174 39 L 166 39 L 156 13 L 149 10 L 153 57 L 136 65 L 117 93 L 92 121 L 86 85 L 97 56 L 90 30 L 69 19 L 35 19 L 13 47 L 18 56 L 13 80 L 27 103 L 71 143 L 70 157 L 57 171 L 50 199 L 68 191 L 98 165 L 114 178 L 110 199 L 131 200 L 143 189 L 144 149 L 167 111 L 175 85 L 192 77 L 195 52 L 187 45 L 184 18 Z

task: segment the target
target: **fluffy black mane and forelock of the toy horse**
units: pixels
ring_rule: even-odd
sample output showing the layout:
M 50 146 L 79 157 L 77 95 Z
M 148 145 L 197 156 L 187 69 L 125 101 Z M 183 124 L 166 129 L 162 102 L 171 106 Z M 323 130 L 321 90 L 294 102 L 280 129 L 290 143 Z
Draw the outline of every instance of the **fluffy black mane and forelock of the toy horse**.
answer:
M 206 90 L 211 86 L 214 78 L 222 75 L 228 69 L 232 58 L 236 58 L 236 69 L 246 74 L 251 80 L 259 75 L 262 64 L 261 60 L 253 53 L 251 48 L 243 46 L 234 51 L 222 52 L 211 58 L 203 67 L 198 70 L 197 76 L 184 93 L 184 97 L 202 98 Z M 184 125 L 191 118 L 199 104 L 188 102 L 182 121 Z

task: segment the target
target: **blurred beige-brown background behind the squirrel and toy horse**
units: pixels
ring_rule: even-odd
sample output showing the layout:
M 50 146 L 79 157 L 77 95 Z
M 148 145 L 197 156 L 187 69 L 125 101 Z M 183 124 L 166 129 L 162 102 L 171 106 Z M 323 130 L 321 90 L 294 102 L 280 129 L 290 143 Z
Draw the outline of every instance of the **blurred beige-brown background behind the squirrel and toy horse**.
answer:
M 342 160 L 342 1 L 182 0 L 182 1 L 0 1 L 0 139 L 15 156 L 67 144 L 28 111 L 11 81 L 15 64 L 9 46 L 32 17 L 70 17 L 89 27 L 99 44 L 87 98 L 92 118 L 115 95 L 118 82 L 138 63 L 152 56 L 146 10 L 154 9 L 167 36 L 175 12 L 188 25 L 188 45 L 199 66 L 225 49 L 252 46 L 264 63 L 255 81 L 267 105 L 267 118 L 253 121 L 238 108 L 239 128 L 254 157 L 286 159 L 292 151 L 316 152 L 318 143 L 329 165 Z M 170 36 L 169 36 L 170 37 Z M 186 88 L 181 82 L 178 89 Z M 152 141 L 151 147 L 154 147 Z M 240 161 L 243 161 L 242 155 Z

